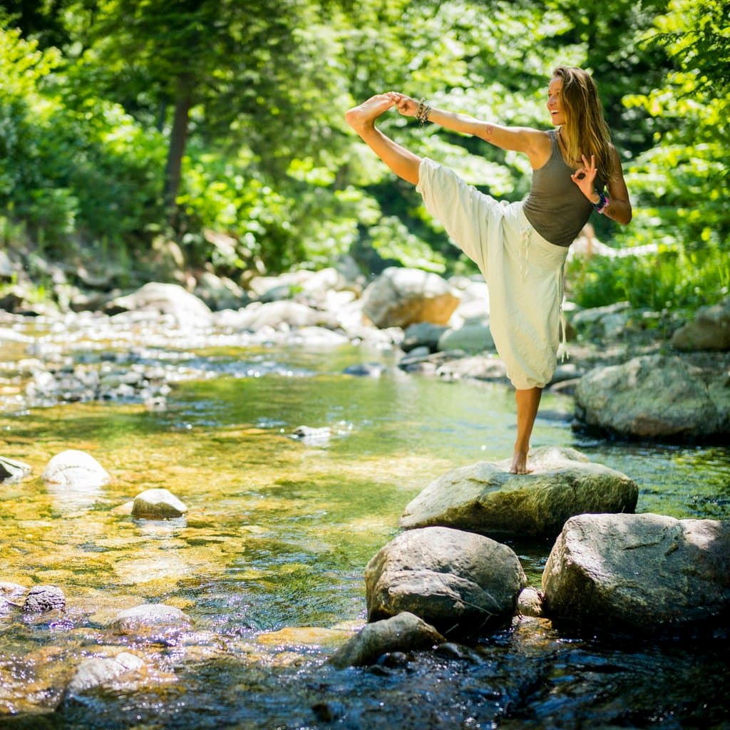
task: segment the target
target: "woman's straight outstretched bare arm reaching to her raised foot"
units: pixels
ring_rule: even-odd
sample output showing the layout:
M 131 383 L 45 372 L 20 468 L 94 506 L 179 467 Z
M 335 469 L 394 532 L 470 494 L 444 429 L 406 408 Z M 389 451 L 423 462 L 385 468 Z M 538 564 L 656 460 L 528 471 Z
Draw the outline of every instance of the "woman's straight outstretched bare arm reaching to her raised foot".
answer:
M 396 91 L 391 91 L 386 96 L 390 96 L 396 102 L 396 107 L 402 115 L 415 117 L 418 101 Z M 429 122 L 463 134 L 473 134 L 502 150 L 525 153 L 533 167 L 544 164 L 545 150 L 549 151 L 550 142 L 545 132 L 531 127 L 503 126 L 485 122 L 468 114 L 447 112 L 437 107 L 431 107 Z

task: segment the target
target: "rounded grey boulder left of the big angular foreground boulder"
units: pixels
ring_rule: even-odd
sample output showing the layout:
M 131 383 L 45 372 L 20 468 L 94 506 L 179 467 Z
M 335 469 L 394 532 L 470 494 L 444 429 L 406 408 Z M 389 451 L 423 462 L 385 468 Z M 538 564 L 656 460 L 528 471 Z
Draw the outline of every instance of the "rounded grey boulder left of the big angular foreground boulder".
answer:
M 445 635 L 477 635 L 512 616 L 525 583 L 507 545 L 445 527 L 411 530 L 366 566 L 368 620 L 407 611 Z

